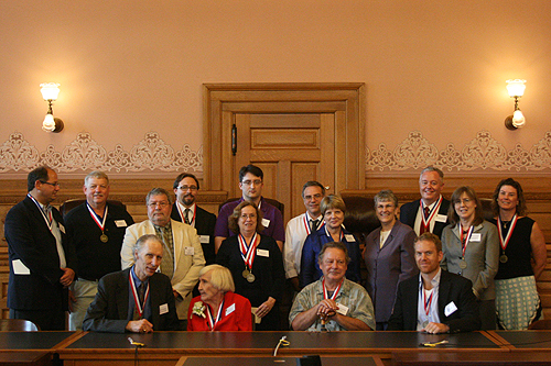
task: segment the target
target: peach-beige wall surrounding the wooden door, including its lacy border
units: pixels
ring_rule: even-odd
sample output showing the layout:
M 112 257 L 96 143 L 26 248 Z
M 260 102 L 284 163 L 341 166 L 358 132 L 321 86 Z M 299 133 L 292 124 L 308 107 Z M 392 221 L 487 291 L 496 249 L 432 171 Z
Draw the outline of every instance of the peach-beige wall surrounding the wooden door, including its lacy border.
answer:
M 201 176 L 202 85 L 251 81 L 365 82 L 368 177 L 549 176 L 550 24 L 549 0 L 1 1 L 0 179 Z M 528 80 L 516 132 L 509 78 Z

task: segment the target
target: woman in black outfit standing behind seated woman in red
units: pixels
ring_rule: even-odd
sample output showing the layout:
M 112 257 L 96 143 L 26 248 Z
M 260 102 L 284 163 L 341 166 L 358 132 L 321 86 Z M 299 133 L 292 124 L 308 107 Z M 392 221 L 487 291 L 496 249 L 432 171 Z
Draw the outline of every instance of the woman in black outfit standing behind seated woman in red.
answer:
M 231 271 L 235 292 L 249 299 L 252 308 L 258 308 L 255 314 L 261 318 L 261 322 L 256 330 L 278 331 L 285 271 L 276 241 L 259 234 L 263 229 L 260 212 L 249 201 L 242 201 L 234 209 L 228 225 L 237 235 L 222 243 L 216 263 Z

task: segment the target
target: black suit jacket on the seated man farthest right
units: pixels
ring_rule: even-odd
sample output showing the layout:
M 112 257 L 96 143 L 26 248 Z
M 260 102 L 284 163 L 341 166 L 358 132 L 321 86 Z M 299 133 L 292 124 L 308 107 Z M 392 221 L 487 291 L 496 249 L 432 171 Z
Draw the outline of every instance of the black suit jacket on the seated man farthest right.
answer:
M 446 317 L 445 307 L 454 302 L 457 307 Z M 395 310 L 388 321 L 389 331 L 415 331 L 419 302 L 419 275 L 398 285 Z M 440 322 L 450 326 L 450 333 L 471 332 L 480 328 L 478 303 L 473 293 L 473 282 L 442 269 L 439 287 Z

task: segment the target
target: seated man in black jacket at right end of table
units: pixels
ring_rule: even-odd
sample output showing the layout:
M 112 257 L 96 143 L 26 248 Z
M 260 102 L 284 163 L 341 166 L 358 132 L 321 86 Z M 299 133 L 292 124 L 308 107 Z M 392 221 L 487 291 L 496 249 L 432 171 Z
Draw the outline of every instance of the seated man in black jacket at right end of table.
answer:
M 471 332 L 480 328 L 471 280 L 440 268 L 442 242 L 431 233 L 415 239 L 419 276 L 398 285 L 388 331 Z

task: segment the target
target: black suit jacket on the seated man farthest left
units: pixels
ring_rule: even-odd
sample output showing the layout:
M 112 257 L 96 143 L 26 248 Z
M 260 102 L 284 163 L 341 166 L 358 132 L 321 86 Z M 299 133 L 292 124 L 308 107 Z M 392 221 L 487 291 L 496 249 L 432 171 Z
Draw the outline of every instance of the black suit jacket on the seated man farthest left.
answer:
M 83 330 L 95 332 L 125 333 L 131 321 L 129 313 L 130 268 L 104 276 L 98 284 L 98 293 L 88 308 Z M 151 323 L 153 331 L 177 331 L 179 320 L 174 293 L 169 277 L 155 273 L 149 278 L 151 300 Z M 169 311 L 161 314 L 160 307 L 168 304 Z

